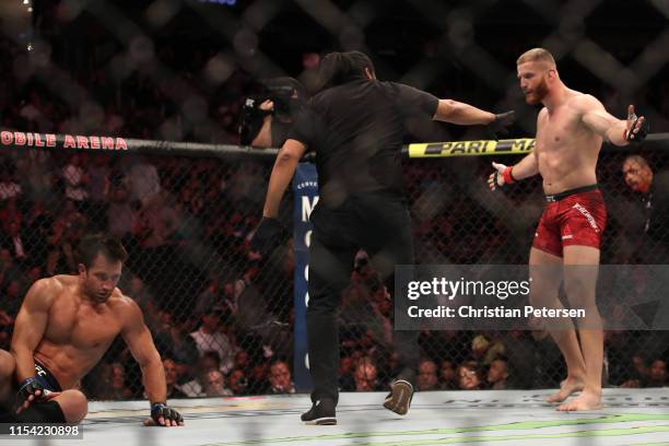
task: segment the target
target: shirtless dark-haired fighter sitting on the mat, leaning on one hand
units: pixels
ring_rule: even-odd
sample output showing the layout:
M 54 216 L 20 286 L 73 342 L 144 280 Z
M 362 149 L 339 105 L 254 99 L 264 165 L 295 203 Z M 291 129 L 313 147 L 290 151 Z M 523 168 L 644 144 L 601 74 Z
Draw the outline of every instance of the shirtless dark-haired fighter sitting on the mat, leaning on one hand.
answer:
M 11 354 L 0 350 L 0 401 L 17 390 L 4 422 L 83 420 L 87 400 L 74 386 L 120 333 L 142 369 L 153 421 L 183 425 L 181 415 L 165 406 L 165 372 L 142 313 L 116 287 L 126 249 L 92 235 L 79 250 L 79 275 L 36 281 L 16 316 Z

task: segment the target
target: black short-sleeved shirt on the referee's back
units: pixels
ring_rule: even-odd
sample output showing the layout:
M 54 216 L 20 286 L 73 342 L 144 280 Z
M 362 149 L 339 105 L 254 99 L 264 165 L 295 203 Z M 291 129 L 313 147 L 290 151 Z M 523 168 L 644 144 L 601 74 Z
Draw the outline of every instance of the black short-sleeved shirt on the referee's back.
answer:
M 355 80 L 315 95 L 289 139 L 316 152 L 319 200 L 356 196 L 403 200 L 401 148 L 410 116 L 433 117 L 438 99 L 396 82 Z

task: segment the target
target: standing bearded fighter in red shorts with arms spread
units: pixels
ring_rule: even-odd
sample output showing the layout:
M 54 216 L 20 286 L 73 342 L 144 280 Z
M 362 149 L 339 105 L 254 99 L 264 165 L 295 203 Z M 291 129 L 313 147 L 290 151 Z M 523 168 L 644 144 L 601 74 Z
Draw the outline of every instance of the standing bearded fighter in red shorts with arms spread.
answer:
M 595 303 L 599 265 L 599 244 L 606 226 L 607 212 L 597 186 L 595 167 L 603 140 L 615 145 L 641 141 L 648 133 L 643 117 L 629 109 L 627 120 L 609 115 L 595 97 L 568 89 L 558 74 L 553 56 L 543 48 L 521 55 L 517 62 L 520 87 L 528 104 L 543 104 L 537 118 L 535 152 L 514 166 L 493 163 L 490 176 L 492 189 L 540 174 L 543 179 L 547 207 L 539 221 L 530 250 L 532 303 L 560 307 L 558 291 L 564 268 L 564 286 L 573 306 L 586 310 L 586 319 L 578 329 L 580 347 L 574 326 L 551 330 L 567 364 L 567 378 L 550 402 L 564 401 L 583 390 L 559 410 L 594 410 L 601 408 L 601 369 L 603 336 L 601 319 Z M 586 267 L 580 267 L 586 266 Z M 532 268 L 535 267 L 535 268 Z M 549 271 L 550 267 L 553 267 Z

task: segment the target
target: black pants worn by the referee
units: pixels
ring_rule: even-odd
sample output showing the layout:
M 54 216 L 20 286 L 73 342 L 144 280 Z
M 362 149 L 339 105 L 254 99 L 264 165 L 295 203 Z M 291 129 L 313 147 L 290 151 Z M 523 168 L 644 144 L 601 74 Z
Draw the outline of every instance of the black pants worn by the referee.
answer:
M 355 254 L 365 249 L 391 296 L 395 266 L 413 265 L 411 219 L 399 200 L 349 198 L 336 209 L 317 204 L 309 247 L 309 301 L 306 313 L 312 400 L 339 399 L 339 328 L 337 308 L 349 285 Z M 394 331 L 400 375 L 415 380 L 418 331 Z

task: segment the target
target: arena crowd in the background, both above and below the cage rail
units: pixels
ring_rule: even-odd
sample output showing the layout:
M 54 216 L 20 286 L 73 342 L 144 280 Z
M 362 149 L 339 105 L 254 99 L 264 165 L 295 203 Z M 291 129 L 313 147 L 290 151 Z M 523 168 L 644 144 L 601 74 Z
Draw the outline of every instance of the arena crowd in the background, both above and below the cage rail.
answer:
M 52 4 L 55 17 L 61 16 L 59 2 L 45 3 Z M 237 143 L 240 108 L 257 92 L 258 82 L 220 45 L 191 48 L 163 36 L 133 40 L 124 48 L 109 43 L 111 31 L 86 25 L 77 34 L 85 37 L 80 51 L 87 56 L 82 61 L 78 49 L 59 37 L 71 25 L 60 19 L 47 21 L 44 39 L 30 52 L 15 39 L 0 36 L 0 70 L 11 73 L 0 78 L 2 129 Z M 412 45 L 423 61 L 434 63 L 444 57 L 437 42 Z M 307 87 L 320 49 L 328 48 L 320 40 L 317 45 L 320 48 L 300 48 L 286 61 L 286 71 Z M 504 51 L 525 49 L 514 40 Z M 630 57 L 626 45 L 619 49 L 619 56 Z M 506 59 L 512 70 L 515 58 Z M 392 68 L 401 73 L 398 63 L 401 60 L 379 63 L 379 75 Z M 637 109 L 653 110 L 654 132 L 669 130 L 666 79 L 633 97 Z M 610 110 L 624 113 L 623 101 L 630 97 L 597 79 L 584 82 L 595 85 L 589 92 Z M 457 67 L 455 74 L 419 86 L 482 107 L 497 105 L 490 86 L 482 84 L 471 71 Z M 504 101 L 505 106 L 514 105 L 512 98 Z M 481 137 L 481 129 L 462 134 L 432 122 L 409 127 L 410 138 L 421 140 Z M 520 127 L 519 136 L 531 132 Z M 669 231 L 648 238 L 644 201 L 620 174 L 623 156 L 602 155 L 598 173 L 609 207 L 602 262 L 666 263 Z M 667 167 L 666 154 L 646 156 L 658 173 Z M 86 232 L 106 231 L 129 250 L 119 286 L 143 309 L 163 357 L 171 397 L 294 392 L 291 239 L 267 258 L 248 244 L 260 216 L 268 168 L 250 161 L 3 149 L 0 348 L 9 348 L 30 285 L 42 277 L 74 273 L 77 240 Z M 404 173 L 419 261 L 527 261 L 543 206 L 536 179 L 512 192 L 492 195 L 485 185 L 489 161 L 480 159 L 411 162 Z M 657 193 L 669 196 L 669 190 Z M 286 226 L 289 211 L 282 214 Z M 645 254 L 655 248 L 659 254 L 648 259 Z M 383 390 L 397 362 L 392 300 L 364 253 L 356 257 L 351 279 L 340 314 L 340 385 L 342 390 Z M 565 376 L 558 348 L 539 329 L 425 331 L 420 343 L 421 390 L 558 387 Z M 668 348 L 665 332 L 607 331 L 606 385 L 668 386 Z M 94 399 L 136 398 L 142 397 L 140 376 L 117 340 L 81 386 Z

